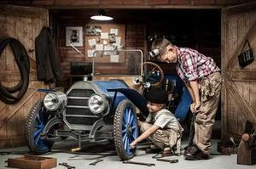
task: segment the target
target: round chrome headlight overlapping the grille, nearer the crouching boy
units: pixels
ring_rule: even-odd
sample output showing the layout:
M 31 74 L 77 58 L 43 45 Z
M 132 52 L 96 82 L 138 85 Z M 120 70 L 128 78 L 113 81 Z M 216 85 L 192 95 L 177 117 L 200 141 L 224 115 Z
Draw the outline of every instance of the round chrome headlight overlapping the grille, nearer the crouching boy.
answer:
M 93 94 L 88 100 L 88 106 L 93 114 L 100 114 L 108 108 L 107 97 L 103 94 Z

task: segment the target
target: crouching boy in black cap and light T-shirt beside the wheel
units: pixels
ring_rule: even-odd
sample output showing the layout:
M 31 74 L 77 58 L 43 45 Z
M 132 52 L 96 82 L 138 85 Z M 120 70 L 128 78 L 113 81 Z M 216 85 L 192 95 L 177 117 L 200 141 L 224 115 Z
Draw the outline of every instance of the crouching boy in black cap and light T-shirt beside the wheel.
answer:
M 130 148 L 133 149 L 136 144 L 148 138 L 154 144 L 152 148 L 163 150 L 163 156 L 172 155 L 173 151 L 179 153 L 183 127 L 171 111 L 165 109 L 166 91 L 151 87 L 144 96 L 148 100 L 149 114 L 145 122 L 138 121 L 143 133 L 130 144 Z M 154 149 L 148 152 L 154 152 Z

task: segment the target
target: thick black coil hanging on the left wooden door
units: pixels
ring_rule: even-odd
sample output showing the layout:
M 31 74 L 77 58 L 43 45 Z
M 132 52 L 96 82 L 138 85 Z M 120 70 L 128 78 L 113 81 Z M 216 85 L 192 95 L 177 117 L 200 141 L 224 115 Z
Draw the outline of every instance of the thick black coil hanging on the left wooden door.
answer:
M 29 83 L 30 62 L 26 48 L 15 38 L 5 37 L 0 39 L 0 56 L 3 49 L 9 44 L 15 56 L 15 61 L 20 70 L 21 80 L 15 87 L 5 87 L 0 82 L 0 100 L 5 104 L 17 103 L 26 93 Z M 18 92 L 18 93 L 17 93 Z M 13 95 L 12 93 L 16 93 Z

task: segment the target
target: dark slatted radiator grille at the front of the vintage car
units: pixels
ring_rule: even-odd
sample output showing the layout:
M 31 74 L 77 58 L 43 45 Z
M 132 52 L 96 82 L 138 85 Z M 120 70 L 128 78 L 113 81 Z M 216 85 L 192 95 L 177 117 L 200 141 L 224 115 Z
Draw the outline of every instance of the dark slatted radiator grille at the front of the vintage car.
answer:
M 67 94 L 65 118 L 72 125 L 92 125 L 98 116 L 90 112 L 88 99 L 95 92 L 92 89 L 72 89 Z

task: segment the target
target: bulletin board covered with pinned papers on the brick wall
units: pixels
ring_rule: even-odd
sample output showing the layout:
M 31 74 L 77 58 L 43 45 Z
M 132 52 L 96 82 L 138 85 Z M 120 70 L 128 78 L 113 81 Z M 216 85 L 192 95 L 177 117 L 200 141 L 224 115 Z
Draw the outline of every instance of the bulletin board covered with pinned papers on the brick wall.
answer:
M 85 54 L 88 59 L 100 56 L 95 58 L 96 62 L 121 63 L 125 61 L 124 54 L 119 54 L 117 50 L 114 50 L 125 47 L 125 25 L 89 24 L 85 25 L 84 34 Z

